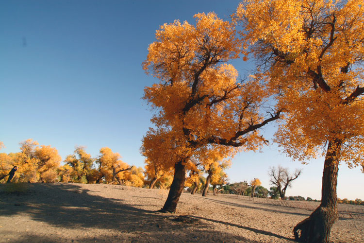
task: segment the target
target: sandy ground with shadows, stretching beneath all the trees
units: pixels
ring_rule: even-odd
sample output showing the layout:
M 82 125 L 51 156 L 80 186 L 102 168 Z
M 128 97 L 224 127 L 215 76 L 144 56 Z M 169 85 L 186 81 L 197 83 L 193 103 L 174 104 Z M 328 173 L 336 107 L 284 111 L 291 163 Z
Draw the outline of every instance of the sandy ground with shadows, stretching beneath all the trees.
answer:
M 155 212 L 167 196 L 159 189 L 50 183 L 9 194 L 3 187 L 1 243 L 294 242 L 293 227 L 318 205 L 183 193 L 169 214 Z M 364 242 L 364 206 L 340 205 L 339 211 L 331 241 Z

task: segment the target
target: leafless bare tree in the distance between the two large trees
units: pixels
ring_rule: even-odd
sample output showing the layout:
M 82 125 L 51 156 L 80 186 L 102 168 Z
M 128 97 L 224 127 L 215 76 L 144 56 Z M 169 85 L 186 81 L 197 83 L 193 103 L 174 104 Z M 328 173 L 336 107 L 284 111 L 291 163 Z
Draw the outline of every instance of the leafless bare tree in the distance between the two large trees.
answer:
M 268 171 L 270 185 L 276 186 L 276 190 L 281 195 L 281 199 L 284 200 L 287 188 L 292 186 L 292 181 L 296 180 L 301 173 L 302 169 L 296 169 L 294 174 L 290 174 L 288 168 L 283 168 L 280 165 L 278 168 L 273 166 Z

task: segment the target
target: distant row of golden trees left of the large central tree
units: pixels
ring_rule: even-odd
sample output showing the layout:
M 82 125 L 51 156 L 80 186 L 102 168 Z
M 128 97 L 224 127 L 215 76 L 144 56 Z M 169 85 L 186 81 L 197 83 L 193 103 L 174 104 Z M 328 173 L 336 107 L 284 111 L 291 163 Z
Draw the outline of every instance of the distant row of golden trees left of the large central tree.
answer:
M 3 146 L 3 144 L 1 143 Z M 93 158 L 84 147 L 78 146 L 63 161 L 56 148 L 50 145 L 38 146 L 37 141 L 28 139 L 20 142 L 20 152 L 0 153 L 0 178 L 9 173 L 13 166 L 18 170 L 13 182 L 74 182 L 109 183 L 143 187 L 143 168 L 130 166 L 121 160 L 110 148 L 100 149 L 100 155 Z M 4 183 L 6 176 L 0 180 Z

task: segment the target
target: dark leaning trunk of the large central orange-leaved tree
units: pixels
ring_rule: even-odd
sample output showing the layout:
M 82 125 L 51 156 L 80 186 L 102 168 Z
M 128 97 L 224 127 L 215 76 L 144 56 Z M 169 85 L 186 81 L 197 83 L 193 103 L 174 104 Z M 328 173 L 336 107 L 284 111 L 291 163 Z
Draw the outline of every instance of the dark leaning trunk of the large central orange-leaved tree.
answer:
M 178 201 L 184 188 L 184 180 L 186 179 L 186 165 L 183 161 L 179 161 L 174 165 L 174 176 L 171 188 L 169 189 L 165 205 L 161 212 L 176 212 Z

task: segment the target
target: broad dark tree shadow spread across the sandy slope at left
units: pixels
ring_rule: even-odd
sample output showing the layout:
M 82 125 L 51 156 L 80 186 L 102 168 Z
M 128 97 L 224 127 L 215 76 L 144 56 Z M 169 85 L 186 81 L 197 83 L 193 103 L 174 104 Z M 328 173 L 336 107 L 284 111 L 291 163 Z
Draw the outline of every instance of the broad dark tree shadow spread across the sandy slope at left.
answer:
M 0 216 L 26 214 L 34 221 L 55 226 L 54 230 L 58 227 L 80 230 L 98 228 L 115 229 L 113 232 L 117 232 L 114 236 L 79 236 L 76 242 L 264 242 L 216 230 L 209 221 L 221 224 L 222 229 L 230 225 L 257 234 L 292 240 L 264 230 L 202 217 L 188 216 L 198 219 L 197 223 L 180 222 L 176 220 L 178 215 L 136 208 L 136 205 L 128 205 L 122 199 L 92 195 L 91 192 L 92 189 L 86 190 L 77 184 L 31 184 L 26 193 L 0 193 Z M 7 234 L 15 234 L 15 231 Z M 17 234 L 21 236 L 22 242 L 65 242 L 59 237 L 37 236 L 34 232 Z

